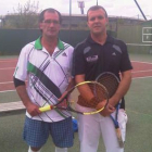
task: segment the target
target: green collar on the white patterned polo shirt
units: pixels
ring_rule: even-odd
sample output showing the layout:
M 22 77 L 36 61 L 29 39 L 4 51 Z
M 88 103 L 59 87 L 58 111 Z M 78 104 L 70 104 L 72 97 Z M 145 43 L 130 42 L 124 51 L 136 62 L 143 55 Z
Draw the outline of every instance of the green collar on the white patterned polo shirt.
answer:
M 37 49 L 37 50 L 42 50 L 42 45 L 41 45 L 40 39 L 41 39 L 41 37 L 39 37 L 35 42 L 35 49 Z M 58 48 L 60 50 L 64 50 L 64 45 L 60 39 L 58 40 Z

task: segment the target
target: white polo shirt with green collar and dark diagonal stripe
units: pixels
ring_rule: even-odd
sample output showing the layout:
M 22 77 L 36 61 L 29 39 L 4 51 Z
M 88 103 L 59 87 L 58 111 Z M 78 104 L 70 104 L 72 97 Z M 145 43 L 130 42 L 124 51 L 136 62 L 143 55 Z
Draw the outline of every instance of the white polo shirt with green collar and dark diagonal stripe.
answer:
M 50 55 L 41 46 L 40 38 L 22 49 L 14 77 L 27 80 L 27 92 L 31 102 L 39 106 L 56 103 L 71 79 L 73 50 L 72 46 L 59 40 L 58 47 Z M 71 116 L 69 112 L 59 110 L 34 117 L 28 112 L 26 115 L 45 122 L 58 122 Z

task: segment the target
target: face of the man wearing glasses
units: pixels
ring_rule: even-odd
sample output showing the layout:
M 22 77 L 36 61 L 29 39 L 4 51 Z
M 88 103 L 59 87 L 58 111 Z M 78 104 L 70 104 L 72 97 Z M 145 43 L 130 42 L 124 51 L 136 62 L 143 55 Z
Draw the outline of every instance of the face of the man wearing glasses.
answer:
M 60 31 L 60 18 L 56 12 L 45 12 L 43 21 L 39 24 L 42 35 L 47 37 L 58 37 Z

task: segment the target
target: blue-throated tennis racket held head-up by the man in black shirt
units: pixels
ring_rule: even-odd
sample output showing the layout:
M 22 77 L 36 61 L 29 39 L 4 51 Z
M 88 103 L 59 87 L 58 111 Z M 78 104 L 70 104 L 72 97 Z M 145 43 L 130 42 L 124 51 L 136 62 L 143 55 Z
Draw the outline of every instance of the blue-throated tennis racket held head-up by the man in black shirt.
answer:
M 113 97 L 113 94 L 116 92 L 118 85 L 119 85 L 119 79 L 113 73 L 110 73 L 110 72 L 105 72 L 105 73 L 100 74 L 96 80 L 98 83 L 102 84 L 106 88 L 110 98 Z M 114 123 L 119 147 L 123 148 L 124 141 L 122 138 L 122 132 L 121 132 L 118 121 L 117 121 L 119 105 L 121 105 L 121 101 L 116 105 L 115 117 L 113 117 L 112 115 L 110 115 L 110 117 L 112 118 L 112 121 Z

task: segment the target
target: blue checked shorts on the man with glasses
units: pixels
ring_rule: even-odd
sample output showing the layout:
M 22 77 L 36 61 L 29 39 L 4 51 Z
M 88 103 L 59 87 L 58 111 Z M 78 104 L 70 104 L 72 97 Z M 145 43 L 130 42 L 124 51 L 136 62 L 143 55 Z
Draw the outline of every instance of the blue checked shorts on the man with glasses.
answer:
M 73 145 L 74 138 L 72 125 L 72 117 L 54 123 L 26 117 L 23 138 L 28 145 L 40 148 L 47 142 L 49 135 L 51 135 L 56 147 L 69 148 Z

